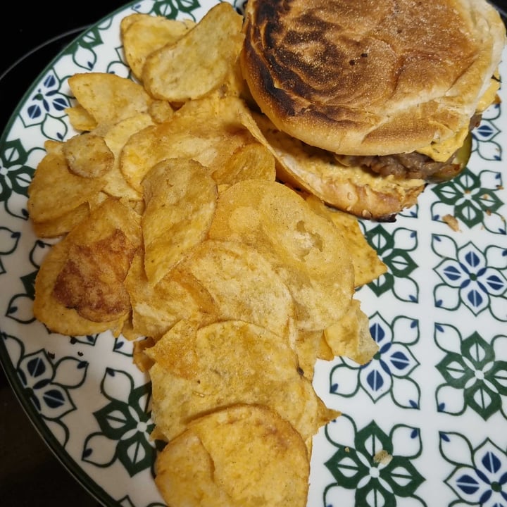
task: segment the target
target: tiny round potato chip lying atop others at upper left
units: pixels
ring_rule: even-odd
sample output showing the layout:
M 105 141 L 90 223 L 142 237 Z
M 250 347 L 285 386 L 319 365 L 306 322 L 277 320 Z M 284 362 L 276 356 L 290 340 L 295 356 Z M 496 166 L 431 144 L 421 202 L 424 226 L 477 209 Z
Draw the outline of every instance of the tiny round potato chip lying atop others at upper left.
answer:
M 90 132 L 77 134 L 63 143 L 63 156 L 75 175 L 101 177 L 113 168 L 114 155 L 104 138 Z

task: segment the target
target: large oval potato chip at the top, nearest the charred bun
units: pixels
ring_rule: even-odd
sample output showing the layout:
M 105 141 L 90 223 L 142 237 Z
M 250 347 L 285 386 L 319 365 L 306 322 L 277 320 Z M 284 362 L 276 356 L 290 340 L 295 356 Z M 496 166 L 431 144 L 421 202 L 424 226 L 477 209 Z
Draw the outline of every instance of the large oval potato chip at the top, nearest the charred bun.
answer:
M 220 86 L 239 56 L 244 35 L 242 15 L 231 4 L 212 7 L 174 44 L 146 57 L 142 81 L 156 99 L 199 99 Z

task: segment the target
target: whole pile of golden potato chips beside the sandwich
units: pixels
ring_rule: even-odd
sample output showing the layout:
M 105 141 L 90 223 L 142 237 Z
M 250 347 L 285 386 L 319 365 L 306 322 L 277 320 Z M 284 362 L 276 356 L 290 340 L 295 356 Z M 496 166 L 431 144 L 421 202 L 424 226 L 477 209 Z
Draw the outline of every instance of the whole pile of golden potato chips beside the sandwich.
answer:
M 124 18 L 134 80 L 70 77 L 81 133 L 46 142 L 29 189 L 36 234 L 59 238 L 35 316 L 134 341 L 171 506 L 305 506 L 312 437 L 339 415 L 315 362 L 377 350 L 353 295 L 386 267 L 355 217 L 277 182 L 241 30 L 227 3 L 199 23 Z

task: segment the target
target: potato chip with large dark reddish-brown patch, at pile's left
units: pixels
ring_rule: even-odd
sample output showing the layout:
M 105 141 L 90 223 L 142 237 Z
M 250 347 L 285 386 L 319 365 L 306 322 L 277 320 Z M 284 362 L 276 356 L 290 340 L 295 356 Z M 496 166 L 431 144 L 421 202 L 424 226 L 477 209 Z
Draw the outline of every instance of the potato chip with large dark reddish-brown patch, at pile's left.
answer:
M 119 333 L 130 314 L 123 278 L 140 240 L 137 214 L 104 201 L 44 258 L 35 280 L 37 320 L 67 335 Z

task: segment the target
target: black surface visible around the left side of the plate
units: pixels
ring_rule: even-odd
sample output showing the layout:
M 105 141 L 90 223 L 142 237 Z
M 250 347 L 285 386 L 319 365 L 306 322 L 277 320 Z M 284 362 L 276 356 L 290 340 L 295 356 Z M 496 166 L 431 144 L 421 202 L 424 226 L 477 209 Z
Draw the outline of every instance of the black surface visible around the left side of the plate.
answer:
M 9 2 L 0 27 L 0 132 L 30 84 L 89 25 L 123 0 Z M 7 8 L 8 7 L 8 8 Z M 0 505 L 99 507 L 46 447 L 0 368 Z

